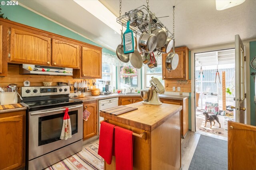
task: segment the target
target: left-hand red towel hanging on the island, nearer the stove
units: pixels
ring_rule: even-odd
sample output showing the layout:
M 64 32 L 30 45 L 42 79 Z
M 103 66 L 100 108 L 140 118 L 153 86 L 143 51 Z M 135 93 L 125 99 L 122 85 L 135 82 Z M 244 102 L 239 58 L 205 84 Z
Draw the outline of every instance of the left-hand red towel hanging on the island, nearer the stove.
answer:
M 114 127 L 104 121 L 100 124 L 100 142 L 98 154 L 106 160 L 107 164 L 112 162 Z

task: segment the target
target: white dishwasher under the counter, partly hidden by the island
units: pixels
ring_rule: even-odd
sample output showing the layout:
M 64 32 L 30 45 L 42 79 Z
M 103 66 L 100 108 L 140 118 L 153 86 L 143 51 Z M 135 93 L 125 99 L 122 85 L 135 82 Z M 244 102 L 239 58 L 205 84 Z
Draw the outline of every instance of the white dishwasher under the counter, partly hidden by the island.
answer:
M 109 109 L 112 107 L 117 107 L 118 106 L 118 98 L 110 98 L 110 99 L 105 99 L 105 100 L 99 100 L 98 101 L 98 106 L 99 106 L 99 134 L 100 134 L 100 121 L 104 120 L 103 117 L 100 117 L 100 110 L 104 109 Z

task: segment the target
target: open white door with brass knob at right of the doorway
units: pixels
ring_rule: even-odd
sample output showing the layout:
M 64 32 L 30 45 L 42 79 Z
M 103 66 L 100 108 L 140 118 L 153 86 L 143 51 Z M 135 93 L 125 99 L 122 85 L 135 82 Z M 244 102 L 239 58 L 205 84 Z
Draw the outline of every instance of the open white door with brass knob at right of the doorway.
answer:
M 236 62 L 236 122 L 246 123 L 245 110 L 245 51 L 244 44 L 239 35 L 235 36 L 235 62 Z

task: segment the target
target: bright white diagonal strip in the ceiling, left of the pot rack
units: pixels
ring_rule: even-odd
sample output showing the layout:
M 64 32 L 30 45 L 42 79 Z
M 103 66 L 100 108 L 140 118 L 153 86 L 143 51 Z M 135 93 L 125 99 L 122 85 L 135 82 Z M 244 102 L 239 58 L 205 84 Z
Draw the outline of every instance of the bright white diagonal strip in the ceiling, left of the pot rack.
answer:
M 116 16 L 106 8 L 98 0 L 74 0 L 78 5 L 84 8 L 86 11 L 90 12 L 93 16 L 98 18 L 100 21 L 112 28 L 116 33 L 120 34 L 120 29 L 122 28 L 116 22 Z

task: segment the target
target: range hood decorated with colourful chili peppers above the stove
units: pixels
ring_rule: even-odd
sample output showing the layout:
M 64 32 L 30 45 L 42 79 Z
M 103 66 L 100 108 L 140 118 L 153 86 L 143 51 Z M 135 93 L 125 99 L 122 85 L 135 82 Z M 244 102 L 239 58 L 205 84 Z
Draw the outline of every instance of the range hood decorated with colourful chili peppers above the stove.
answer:
M 22 64 L 22 65 L 20 65 L 20 74 L 44 74 L 44 75 L 72 76 L 73 69 L 65 68 L 65 67 L 52 67 L 52 66 Z

